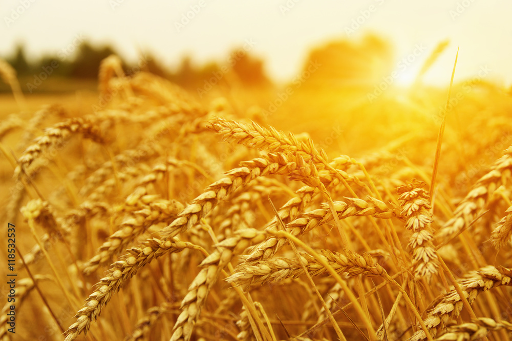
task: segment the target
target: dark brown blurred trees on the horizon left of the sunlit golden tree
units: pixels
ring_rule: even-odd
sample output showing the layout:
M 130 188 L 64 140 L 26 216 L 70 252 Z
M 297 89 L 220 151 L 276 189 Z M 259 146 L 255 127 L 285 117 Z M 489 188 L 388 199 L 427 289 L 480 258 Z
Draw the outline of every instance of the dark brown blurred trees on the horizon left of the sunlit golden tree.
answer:
M 26 82 L 30 82 L 31 78 L 36 78 L 41 72 L 50 70 L 49 67 L 52 69 L 51 77 L 97 80 L 102 59 L 111 54 L 121 58 L 126 75 L 138 72 L 137 66 L 140 65 L 142 71 L 152 72 L 186 88 L 202 87 L 204 82 L 210 82 L 212 77 L 224 78 L 223 82 L 230 80 L 249 87 L 272 84 L 265 73 L 263 61 L 242 48 L 232 51 L 225 61 L 210 62 L 203 66 L 195 65 L 189 56 L 184 56 L 177 70 L 173 71 L 163 66 L 150 53 L 142 53 L 139 63 L 131 65 L 125 62 L 111 46 L 95 46 L 87 41 L 82 41 L 73 53 L 59 52 L 56 55 L 46 55 L 36 61 L 30 61 L 25 47 L 19 44 L 14 53 L 5 59 L 16 70 L 22 88 L 25 88 Z

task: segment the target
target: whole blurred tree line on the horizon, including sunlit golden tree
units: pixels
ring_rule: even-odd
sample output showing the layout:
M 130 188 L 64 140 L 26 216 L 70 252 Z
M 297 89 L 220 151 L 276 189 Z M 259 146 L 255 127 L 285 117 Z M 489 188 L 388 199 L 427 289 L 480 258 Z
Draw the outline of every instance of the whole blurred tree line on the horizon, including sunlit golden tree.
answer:
M 194 63 L 190 56 L 183 56 L 174 70 L 164 66 L 151 53 L 141 53 L 138 63 L 131 65 L 123 61 L 123 69 L 128 76 L 139 70 L 154 73 L 182 87 L 195 90 L 199 95 L 217 85 L 228 88 L 272 86 L 272 81 L 265 73 L 264 62 L 251 54 L 251 48 L 247 42 L 239 49 L 232 50 L 225 59 L 204 65 Z M 53 78 L 54 85 L 63 84 L 65 89 L 70 90 L 72 87 L 66 88 L 66 82 L 62 82 L 62 78 L 89 80 L 94 87 L 101 61 L 111 54 L 116 54 L 123 60 L 111 46 L 96 46 L 81 39 L 72 50 L 62 50 L 36 61 L 27 58 L 25 47 L 20 44 L 5 59 L 16 70 L 24 91 L 27 91 L 29 83 L 35 83 L 42 72 L 51 72 L 44 79 Z M 306 87 L 313 88 L 338 85 L 373 86 L 381 81 L 382 76 L 390 74 L 392 68 L 392 46 L 385 39 L 368 34 L 358 41 L 339 39 L 311 50 L 302 70 L 297 70 L 290 83 L 295 88 L 303 83 L 307 83 Z M 36 91 L 52 91 L 49 83 L 51 82 L 41 82 L 41 87 Z M 0 91 L 10 90 L 0 82 Z

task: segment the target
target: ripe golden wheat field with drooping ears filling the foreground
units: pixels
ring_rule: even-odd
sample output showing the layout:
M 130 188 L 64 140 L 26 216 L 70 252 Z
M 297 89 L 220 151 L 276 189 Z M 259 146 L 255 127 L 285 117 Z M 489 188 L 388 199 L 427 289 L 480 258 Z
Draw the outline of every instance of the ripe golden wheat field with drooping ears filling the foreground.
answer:
M 499 86 L 390 91 L 343 117 L 304 87 L 266 115 L 112 56 L 100 105 L 31 111 L 0 68 L 19 105 L 0 123 L 2 341 L 512 339 Z

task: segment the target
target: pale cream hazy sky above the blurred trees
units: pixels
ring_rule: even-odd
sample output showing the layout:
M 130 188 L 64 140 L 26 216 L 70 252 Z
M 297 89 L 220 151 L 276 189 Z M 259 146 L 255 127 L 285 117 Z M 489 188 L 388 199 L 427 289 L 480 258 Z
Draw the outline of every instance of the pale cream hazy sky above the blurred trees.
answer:
M 267 73 L 285 82 L 302 68 L 312 48 L 336 39 L 361 39 L 368 32 L 394 47 L 396 64 L 421 46 L 400 78 L 407 83 L 438 43 L 450 45 L 425 75 L 425 82 L 484 77 L 512 85 L 512 2 L 509 0 L 3 0 L 0 56 L 23 42 L 32 58 L 72 56 L 81 39 L 112 44 L 129 61 L 151 51 L 168 67 L 190 55 L 202 65 L 227 63 L 231 50 L 246 46 L 264 58 Z M 483 74 L 481 72 L 481 74 Z

